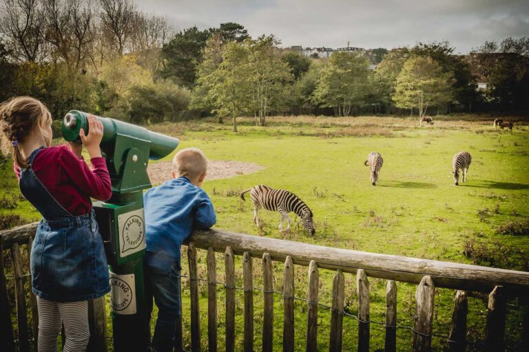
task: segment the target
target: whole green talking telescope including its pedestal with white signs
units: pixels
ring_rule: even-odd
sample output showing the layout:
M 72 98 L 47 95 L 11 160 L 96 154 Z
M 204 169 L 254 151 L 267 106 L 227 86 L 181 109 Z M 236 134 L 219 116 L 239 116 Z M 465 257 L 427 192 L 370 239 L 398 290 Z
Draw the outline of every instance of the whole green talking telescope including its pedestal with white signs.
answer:
M 72 110 L 62 124 L 68 142 L 80 141 L 79 131 L 89 133 L 87 113 Z M 143 190 L 151 187 L 149 159 L 169 155 L 178 139 L 148 131 L 112 118 L 103 123 L 101 152 L 112 180 L 112 198 L 94 202 L 94 210 L 110 265 L 110 307 L 114 351 L 141 351 L 145 347 L 145 217 Z

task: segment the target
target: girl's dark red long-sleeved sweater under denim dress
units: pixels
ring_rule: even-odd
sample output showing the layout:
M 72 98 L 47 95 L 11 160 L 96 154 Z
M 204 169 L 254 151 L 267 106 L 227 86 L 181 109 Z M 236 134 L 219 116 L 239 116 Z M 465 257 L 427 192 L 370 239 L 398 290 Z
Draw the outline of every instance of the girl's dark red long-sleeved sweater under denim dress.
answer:
M 90 162 L 92 170 L 68 146 L 50 146 L 37 153 L 32 168 L 55 200 L 76 217 L 92 210 L 90 197 L 106 201 L 112 195 L 105 158 L 94 157 Z M 16 165 L 14 172 L 20 179 Z

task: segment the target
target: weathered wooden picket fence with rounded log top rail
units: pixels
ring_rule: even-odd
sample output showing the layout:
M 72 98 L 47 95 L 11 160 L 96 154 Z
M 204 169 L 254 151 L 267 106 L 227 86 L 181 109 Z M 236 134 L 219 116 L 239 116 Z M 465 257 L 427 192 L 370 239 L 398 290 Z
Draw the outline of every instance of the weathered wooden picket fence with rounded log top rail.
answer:
M 23 281 L 28 278 L 24 274 L 21 261 L 20 245 L 30 246 L 36 224 L 21 226 L 0 232 L 3 250 L 10 250 L 15 281 L 15 305 L 17 307 L 17 344 L 20 351 L 29 351 L 28 319 L 25 307 Z M 207 278 L 198 276 L 197 249 L 207 250 Z M 1 351 L 14 351 L 14 333 L 12 331 L 10 305 L 6 292 L 6 273 L 3 268 L 3 250 L 0 247 L 0 307 L 2 312 L 0 333 Z M 218 281 L 215 252 L 224 253 L 225 282 Z M 236 287 L 235 256 L 242 256 L 242 287 Z M 262 287 L 253 285 L 252 257 L 262 260 Z M 370 319 L 369 309 L 369 277 L 387 279 L 385 322 L 380 322 L 386 330 L 385 351 L 396 351 L 396 331 L 399 328 L 413 332 L 413 351 L 430 351 L 431 341 L 435 335 L 432 330 L 433 307 L 436 287 L 456 289 L 452 325 L 446 339 L 450 351 L 465 351 L 467 331 L 467 294 L 466 292 L 486 292 L 488 296 L 486 327 L 484 341 L 481 342 L 486 351 L 504 351 L 504 333 L 506 325 L 506 304 L 508 298 L 528 297 L 529 272 L 501 270 L 477 265 L 448 263 L 424 259 L 374 254 L 320 245 L 309 245 L 293 241 L 269 239 L 220 230 L 198 231 L 187 243 L 189 265 L 189 294 L 191 322 L 191 350 L 200 351 L 200 305 L 199 281 L 207 282 L 207 346 L 209 351 L 217 351 L 217 286 L 225 289 L 225 349 L 234 351 L 236 347 L 236 289 L 244 291 L 244 350 L 253 351 L 253 290 L 260 289 L 263 294 L 262 316 L 262 350 L 271 351 L 273 342 L 273 302 L 274 294 L 283 300 L 283 351 L 294 351 L 294 305 L 295 300 L 307 304 L 307 351 L 317 351 L 318 309 L 331 310 L 329 350 L 342 350 L 342 325 L 344 316 L 350 316 L 358 322 L 358 351 L 369 351 Z M 282 292 L 273 287 L 272 262 L 284 262 Z M 308 267 L 309 287 L 307 298 L 294 296 L 294 265 Z M 332 288 L 332 306 L 327 307 L 318 301 L 319 269 L 335 270 Z M 357 315 L 344 309 L 344 273 L 356 275 L 357 281 Z M 10 276 L 8 275 L 8 278 Z M 417 284 L 415 293 L 415 320 L 413 327 L 397 324 L 397 285 L 395 281 Z M 37 336 L 37 309 L 31 294 L 32 331 Z M 90 305 L 91 351 L 105 351 L 107 335 L 105 331 L 104 300 L 95 300 Z M 520 350 L 529 349 L 529 313 L 525 312 Z M 182 348 L 182 322 L 176 332 L 176 347 Z M 408 349 L 408 348 L 404 348 Z

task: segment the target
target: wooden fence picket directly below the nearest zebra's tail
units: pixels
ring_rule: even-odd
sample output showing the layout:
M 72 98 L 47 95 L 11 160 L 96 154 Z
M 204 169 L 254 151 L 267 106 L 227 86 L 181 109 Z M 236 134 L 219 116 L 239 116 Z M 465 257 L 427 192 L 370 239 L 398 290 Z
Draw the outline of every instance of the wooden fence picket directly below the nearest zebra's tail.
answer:
M 245 352 L 253 352 L 253 259 L 242 254 L 242 276 L 245 290 Z

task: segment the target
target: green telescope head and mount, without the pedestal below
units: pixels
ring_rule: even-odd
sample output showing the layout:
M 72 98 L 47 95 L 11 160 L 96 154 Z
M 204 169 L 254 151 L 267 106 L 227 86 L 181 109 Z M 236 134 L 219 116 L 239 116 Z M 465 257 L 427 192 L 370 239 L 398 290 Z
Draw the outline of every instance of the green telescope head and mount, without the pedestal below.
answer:
M 87 115 L 77 110 L 65 115 L 62 125 L 65 140 L 80 141 L 81 129 L 88 134 Z M 169 155 L 178 146 L 178 139 L 112 118 L 96 118 L 103 123 L 101 151 L 107 158 L 113 192 L 127 193 L 149 188 L 149 159 L 157 160 Z

